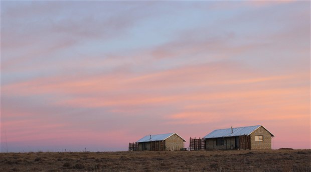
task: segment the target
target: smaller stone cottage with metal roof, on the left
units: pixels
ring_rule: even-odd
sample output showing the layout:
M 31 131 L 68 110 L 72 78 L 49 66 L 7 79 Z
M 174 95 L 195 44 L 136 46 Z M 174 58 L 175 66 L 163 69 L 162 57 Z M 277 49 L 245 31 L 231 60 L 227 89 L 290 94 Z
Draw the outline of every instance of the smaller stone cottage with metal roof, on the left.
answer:
M 184 138 L 177 133 L 146 135 L 138 141 L 138 150 L 180 150 L 184 148 Z

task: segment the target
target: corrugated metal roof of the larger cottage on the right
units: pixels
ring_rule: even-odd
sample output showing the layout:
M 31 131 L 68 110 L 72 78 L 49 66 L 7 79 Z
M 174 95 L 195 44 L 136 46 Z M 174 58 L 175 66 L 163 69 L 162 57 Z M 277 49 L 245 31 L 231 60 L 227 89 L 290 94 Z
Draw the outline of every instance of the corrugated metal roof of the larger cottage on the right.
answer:
M 239 136 L 239 135 L 244 135 L 244 134 L 249 135 L 254 130 L 259 128 L 260 126 L 262 126 L 262 125 L 237 127 L 237 128 L 233 128 L 232 133 L 231 133 L 231 128 L 215 129 L 211 133 L 207 134 L 204 138 L 230 137 L 230 136 Z M 268 131 L 268 132 L 270 132 L 270 131 Z M 271 135 L 274 136 L 272 133 L 271 133 Z

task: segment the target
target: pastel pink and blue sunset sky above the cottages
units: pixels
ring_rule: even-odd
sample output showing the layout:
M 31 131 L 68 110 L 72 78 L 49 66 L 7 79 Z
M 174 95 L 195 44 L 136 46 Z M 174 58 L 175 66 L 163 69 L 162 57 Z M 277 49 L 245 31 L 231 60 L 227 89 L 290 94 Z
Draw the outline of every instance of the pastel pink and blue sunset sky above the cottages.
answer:
M 1 1 L 1 152 L 310 121 L 310 1 Z

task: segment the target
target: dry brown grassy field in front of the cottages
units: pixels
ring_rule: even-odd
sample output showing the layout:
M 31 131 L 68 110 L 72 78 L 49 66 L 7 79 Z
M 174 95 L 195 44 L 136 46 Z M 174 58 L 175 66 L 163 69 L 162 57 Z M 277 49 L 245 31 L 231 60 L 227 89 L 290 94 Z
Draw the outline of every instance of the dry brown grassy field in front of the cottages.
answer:
M 311 150 L 0 153 L 0 171 L 311 171 Z

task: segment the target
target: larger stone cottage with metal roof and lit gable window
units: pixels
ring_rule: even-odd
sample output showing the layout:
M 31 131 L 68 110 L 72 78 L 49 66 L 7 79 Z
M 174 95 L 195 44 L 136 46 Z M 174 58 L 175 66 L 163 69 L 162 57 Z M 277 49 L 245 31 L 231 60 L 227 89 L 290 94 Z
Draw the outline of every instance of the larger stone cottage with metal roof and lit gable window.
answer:
M 206 149 L 271 149 L 274 135 L 262 125 L 216 129 L 207 134 Z

